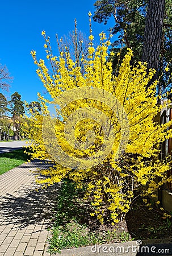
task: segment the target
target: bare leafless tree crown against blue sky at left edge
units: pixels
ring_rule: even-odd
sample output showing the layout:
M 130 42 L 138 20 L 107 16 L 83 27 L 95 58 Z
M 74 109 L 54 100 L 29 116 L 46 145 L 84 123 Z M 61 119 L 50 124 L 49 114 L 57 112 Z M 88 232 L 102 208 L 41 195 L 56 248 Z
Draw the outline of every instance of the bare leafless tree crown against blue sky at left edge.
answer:
M 9 90 L 9 83 L 12 80 L 10 73 L 5 65 L 0 64 L 0 88 Z

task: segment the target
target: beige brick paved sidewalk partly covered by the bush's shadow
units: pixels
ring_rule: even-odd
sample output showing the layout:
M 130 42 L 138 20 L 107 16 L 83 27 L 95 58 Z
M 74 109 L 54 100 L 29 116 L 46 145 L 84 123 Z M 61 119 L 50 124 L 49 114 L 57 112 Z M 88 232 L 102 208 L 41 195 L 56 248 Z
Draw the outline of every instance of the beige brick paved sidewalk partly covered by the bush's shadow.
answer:
M 50 255 L 46 240 L 58 185 L 41 189 L 29 171 L 39 167 L 45 165 L 35 160 L 0 176 L 0 256 Z

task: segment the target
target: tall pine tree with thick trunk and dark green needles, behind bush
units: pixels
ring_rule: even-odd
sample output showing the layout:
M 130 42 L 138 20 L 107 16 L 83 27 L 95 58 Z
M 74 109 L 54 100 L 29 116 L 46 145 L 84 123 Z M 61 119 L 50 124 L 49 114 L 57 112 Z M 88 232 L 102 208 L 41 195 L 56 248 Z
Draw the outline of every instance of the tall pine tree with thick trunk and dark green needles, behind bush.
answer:
M 165 71 L 172 51 L 172 0 L 98 0 L 94 5 L 95 21 L 106 24 L 110 16 L 114 16 L 111 31 L 118 39 L 112 43 L 112 51 L 118 53 L 121 48 L 123 59 L 129 47 L 134 55 L 131 64 L 142 60 L 159 74 Z M 114 69 L 117 63 L 116 54 Z M 159 92 L 162 88 L 169 90 L 171 72 L 169 65 L 169 71 L 161 78 Z

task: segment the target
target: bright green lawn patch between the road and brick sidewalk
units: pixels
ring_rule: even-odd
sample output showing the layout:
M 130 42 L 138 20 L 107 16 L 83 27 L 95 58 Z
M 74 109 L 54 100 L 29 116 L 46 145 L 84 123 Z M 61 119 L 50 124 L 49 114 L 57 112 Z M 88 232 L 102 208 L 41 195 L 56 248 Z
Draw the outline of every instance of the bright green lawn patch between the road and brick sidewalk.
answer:
M 0 175 L 26 162 L 27 159 L 29 156 L 24 153 L 24 148 L 0 154 Z

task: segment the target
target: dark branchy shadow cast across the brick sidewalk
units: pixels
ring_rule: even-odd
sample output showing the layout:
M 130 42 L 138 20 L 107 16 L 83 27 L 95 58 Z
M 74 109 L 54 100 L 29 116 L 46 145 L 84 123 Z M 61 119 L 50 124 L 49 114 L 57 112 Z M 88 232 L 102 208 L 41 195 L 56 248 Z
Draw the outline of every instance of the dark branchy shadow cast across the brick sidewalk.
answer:
M 15 224 L 21 229 L 30 224 L 51 225 L 58 188 L 59 184 L 47 189 L 42 189 L 37 184 L 32 188 L 23 185 L 15 196 L 10 193 L 1 196 L 0 224 Z

